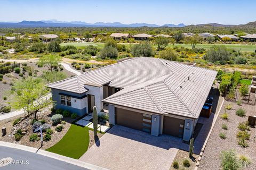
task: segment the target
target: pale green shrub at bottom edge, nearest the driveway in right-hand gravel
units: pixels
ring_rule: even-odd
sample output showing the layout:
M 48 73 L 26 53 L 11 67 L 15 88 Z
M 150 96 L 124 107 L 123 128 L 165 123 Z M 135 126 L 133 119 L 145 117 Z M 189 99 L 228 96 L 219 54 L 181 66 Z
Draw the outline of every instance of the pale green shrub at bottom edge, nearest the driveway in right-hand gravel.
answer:
M 238 162 L 236 152 L 233 149 L 221 152 L 221 166 L 223 170 L 238 170 L 241 165 Z

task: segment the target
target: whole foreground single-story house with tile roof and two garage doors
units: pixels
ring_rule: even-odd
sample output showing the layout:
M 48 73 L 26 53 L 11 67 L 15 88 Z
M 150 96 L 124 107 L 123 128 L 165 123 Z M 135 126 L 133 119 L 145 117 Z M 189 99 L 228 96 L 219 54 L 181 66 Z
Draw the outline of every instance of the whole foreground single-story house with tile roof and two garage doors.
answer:
M 79 116 L 108 108 L 110 124 L 189 141 L 216 71 L 137 57 L 47 85 L 55 108 Z M 107 107 L 106 107 L 107 106 Z

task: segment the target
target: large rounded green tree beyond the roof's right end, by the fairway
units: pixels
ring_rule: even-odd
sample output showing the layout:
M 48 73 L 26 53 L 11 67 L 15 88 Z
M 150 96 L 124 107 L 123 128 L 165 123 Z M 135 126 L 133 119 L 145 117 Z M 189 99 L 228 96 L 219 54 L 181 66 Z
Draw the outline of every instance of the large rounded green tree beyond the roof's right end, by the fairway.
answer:
M 213 45 L 206 52 L 204 59 L 212 63 L 226 64 L 230 60 L 230 54 L 225 46 Z

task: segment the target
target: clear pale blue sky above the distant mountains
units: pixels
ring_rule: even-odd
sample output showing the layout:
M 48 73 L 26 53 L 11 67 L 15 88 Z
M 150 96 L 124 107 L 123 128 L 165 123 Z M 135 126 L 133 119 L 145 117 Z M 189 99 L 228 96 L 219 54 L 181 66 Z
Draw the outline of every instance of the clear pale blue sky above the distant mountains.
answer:
M 1 0 L 0 21 L 245 24 L 256 20 L 255 6 L 253 0 Z

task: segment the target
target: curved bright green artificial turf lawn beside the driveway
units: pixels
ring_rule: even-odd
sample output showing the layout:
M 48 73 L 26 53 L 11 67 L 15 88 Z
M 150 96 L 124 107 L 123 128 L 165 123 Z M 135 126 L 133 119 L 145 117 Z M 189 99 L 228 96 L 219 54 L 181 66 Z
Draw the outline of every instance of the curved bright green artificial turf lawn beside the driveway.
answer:
M 72 124 L 65 136 L 46 151 L 79 159 L 87 151 L 89 141 L 89 129 Z

